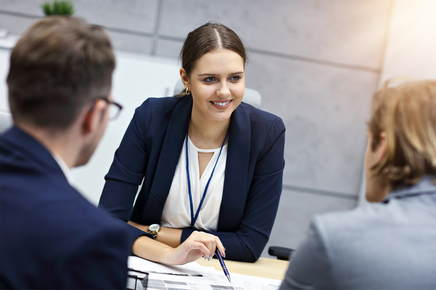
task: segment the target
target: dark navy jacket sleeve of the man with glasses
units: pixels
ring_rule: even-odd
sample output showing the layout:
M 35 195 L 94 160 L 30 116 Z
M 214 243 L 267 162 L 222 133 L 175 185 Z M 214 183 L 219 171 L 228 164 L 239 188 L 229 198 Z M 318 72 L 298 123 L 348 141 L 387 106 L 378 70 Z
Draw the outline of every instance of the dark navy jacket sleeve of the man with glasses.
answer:
M 126 289 L 129 253 L 124 229 L 100 231 L 59 261 L 54 289 Z

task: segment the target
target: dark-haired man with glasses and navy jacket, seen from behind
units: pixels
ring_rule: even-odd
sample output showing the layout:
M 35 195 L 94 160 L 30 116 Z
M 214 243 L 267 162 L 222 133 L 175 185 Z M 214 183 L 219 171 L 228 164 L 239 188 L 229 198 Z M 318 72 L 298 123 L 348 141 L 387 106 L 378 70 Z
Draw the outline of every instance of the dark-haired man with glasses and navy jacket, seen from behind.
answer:
M 88 162 L 121 110 L 110 93 L 114 67 L 105 31 L 74 17 L 37 21 L 12 50 L 14 127 L 0 143 L 1 289 L 125 288 L 125 226 L 87 202 L 70 171 Z

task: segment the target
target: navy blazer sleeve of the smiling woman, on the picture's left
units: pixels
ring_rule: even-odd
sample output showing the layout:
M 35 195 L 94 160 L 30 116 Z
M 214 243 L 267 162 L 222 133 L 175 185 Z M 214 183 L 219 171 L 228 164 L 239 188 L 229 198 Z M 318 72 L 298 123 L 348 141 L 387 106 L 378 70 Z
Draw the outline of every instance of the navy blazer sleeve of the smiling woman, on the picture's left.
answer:
M 133 202 L 141 184 L 148 156 L 143 136 L 146 136 L 151 119 L 151 104 L 147 99 L 136 108 L 135 114 L 115 151 L 112 165 L 106 174 L 106 183 L 99 201 L 99 208 L 116 220 L 123 220 L 129 232 L 130 245 L 140 236 L 152 236 L 129 225 Z

